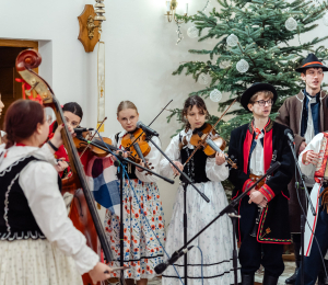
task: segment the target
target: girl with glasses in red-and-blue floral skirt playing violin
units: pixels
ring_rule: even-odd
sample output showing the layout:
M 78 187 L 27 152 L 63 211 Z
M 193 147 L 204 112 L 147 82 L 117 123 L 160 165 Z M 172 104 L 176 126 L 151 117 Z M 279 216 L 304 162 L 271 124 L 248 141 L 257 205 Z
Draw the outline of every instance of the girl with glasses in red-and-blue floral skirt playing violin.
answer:
M 137 129 L 139 114 L 136 105 L 130 101 L 122 101 L 117 107 L 117 119 L 124 130 L 110 138 L 115 147 L 125 149 L 122 146 L 125 138 L 131 136 Z M 159 138 L 154 137 L 153 140 L 160 145 Z M 154 168 L 153 171 L 156 172 L 161 153 L 152 144 L 149 145 L 151 151 L 145 156 L 145 159 Z M 133 280 L 137 281 L 138 285 L 145 285 L 148 280 L 155 276 L 154 267 L 163 260 L 163 249 L 156 236 L 163 244 L 165 235 L 164 214 L 160 192 L 155 183 L 157 178 L 147 175 L 145 171 L 133 166 L 128 172 L 130 172 L 128 175 L 131 183 L 126 180 L 124 185 L 124 260 L 125 265 L 130 265 L 131 269 L 125 271 L 125 277 L 128 285 L 134 284 Z M 141 208 L 145 216 L 141 213 Z M 147 219 L 150 224 L 147 223 Z M 106 235 L 112 242 L 115 259 L 118 260 L 117 262 L 110 262 L 110 266 L 119 266 L 119 220 L 120 218 L 109 210 L 106 213 Z

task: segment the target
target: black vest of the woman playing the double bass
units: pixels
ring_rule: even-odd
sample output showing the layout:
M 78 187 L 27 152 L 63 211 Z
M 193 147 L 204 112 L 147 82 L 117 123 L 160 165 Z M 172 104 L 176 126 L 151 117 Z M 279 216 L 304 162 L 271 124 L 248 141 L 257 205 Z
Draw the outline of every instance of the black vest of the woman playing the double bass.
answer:
M 21 171 L 34 157 L 25 157 L 0 173 L 0 240 L 45 239 L 25 194 L 20 186 Z M 59 178 L 59 176 L 58 176 Z M 61 180 L 58 180 L 61 189 Z

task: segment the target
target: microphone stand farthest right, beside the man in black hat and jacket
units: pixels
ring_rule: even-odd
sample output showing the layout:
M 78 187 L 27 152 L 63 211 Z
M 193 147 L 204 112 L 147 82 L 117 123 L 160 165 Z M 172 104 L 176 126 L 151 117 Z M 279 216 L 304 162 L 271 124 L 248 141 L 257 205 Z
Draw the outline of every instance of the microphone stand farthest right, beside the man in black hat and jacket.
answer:
M 308 191 L 307 191 L 307 187 L 305 185 L 305 182 L 304 182 L 304 176 L 302 174 L 302 171 L 301 171 L 301 168 L 300 168 L 300 164 L 298 164 L 298 159 L 296 157 L 296 151 L 295 151 L 295 146 L 294 146 L 294 141 L 291 141 L 291 139 L 289 138 L 288 139 L 289 141 L 289 146 L 292 150 L 292 153 L 293 153 L 293 157 L 294 157 L 294 160 L 295 160 L 295 168 L 300 174 L 300 178 L 301 178 L 301 182 L 303 184 L 303 187 L 304 187 L 304 192 L 305 192 L 305 195 L 306 195 L 306 200 L 307 200 L 307 203 L 311 207 L 311 210 L 312 210 L 312 214 L 314 216 L 316 216 L 316 212 L 314 209 L 314 206 L 312 204 L 312 201 L 311 201 L 311 197 L 308 195 Z M 295 179 L 297 179 L 297 173 L 295 175 Z M 297 191 L 300 190 L 298 186 L 296 186 Z M 305 224 L 305 220 L 306 220 L 306 217 L 304 217 L 304 215 L 302 214 L 301 215 L 301 285 L 304 285 L 304 232 L 305 232 L 305 227 L 304 227 L 304 224 Z

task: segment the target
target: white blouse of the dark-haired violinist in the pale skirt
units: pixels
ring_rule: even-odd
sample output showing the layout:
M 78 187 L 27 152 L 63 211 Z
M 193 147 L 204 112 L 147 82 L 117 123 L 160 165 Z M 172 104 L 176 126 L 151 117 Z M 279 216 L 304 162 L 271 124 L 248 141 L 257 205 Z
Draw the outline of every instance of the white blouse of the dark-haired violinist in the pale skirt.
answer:
M 185 130 L 181 130 L 179 133 L 181 135 L 181 138 L 186 137 L 188 145 L 185 147 L 188 147 L 189 149 L 194 149 L 194 146 L 189 142 L 190 138 L 192 136 L 192 130 L 189 129 L 187 133 Z M 165 155 L 173 161 L 179 161 L 181 162 L 180 158 L 180 148 L 179 148 L 179 134 L 172 138 L 168 147 L 165 150 Z M 201 150 L 199 150 L 201 151 Z M 225 167 L 226 163 L 223 163 L 221 166 L 218 166 L 215 163 L 215 158 L 207 158 L 207 164 L 206 164 L 206 173 L 209 180 L 211 181 L 223 181 L 226 180 L 229 176 L 229 168 Z M 166 158 L 163 158 L 160 163 L 161 168 L 161 174 L 164 176 L 173 176 L 174 172 L 171 167 L 171 163 Z

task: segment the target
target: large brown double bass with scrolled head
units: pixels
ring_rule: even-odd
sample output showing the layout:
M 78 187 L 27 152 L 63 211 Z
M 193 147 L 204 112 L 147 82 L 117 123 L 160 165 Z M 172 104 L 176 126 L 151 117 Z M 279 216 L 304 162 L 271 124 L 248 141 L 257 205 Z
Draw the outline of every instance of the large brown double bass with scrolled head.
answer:
M 89 189 L 84 170 L 66 124 L 61 106 L 50 86 L 32 70 L 37 68 L 40 62 L 42 56 L 36 50 L 26 49 L 17 56 L 15 66 L 21 77 L 42 98 L 43 104 L 54 110 L 58 124 L 65 124 L 61 135 L 63 146 L 68 152 L 72 175 L 62 181 L 62 194 L 69 192 L 74 197 L 71 205 L 70 218 L 74 227 L 85 236 L 86 244 L 96 253 L 99 253 L 102 249 L 106 261 L 112 261 L 110 244 L 105 236 L 104 226 L 99 219 L 93 194 Z M 87 273 L 82 278 L 84 285 L 93 284 Z M 124 274 L 120 274 L 120 283 L 121 285 L 126 285 Z

